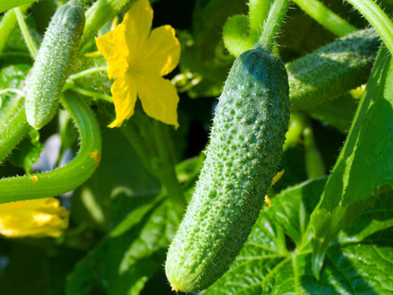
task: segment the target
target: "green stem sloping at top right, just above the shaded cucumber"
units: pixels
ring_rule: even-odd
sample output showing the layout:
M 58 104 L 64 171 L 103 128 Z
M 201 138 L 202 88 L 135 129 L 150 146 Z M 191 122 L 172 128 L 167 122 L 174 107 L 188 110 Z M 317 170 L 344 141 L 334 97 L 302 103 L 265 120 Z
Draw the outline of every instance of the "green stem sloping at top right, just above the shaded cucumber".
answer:
M 294 0 L 310 17 L 338 37 L 358 30 L 318 0 Z

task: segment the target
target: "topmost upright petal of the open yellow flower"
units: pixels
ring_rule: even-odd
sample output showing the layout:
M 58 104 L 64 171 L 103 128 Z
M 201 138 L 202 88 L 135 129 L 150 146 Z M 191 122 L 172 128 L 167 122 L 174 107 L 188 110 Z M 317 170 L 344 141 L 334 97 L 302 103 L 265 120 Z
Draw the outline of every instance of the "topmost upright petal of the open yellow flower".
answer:
M 127 36 L 129 60 L 139 59 L 141 49 L 147 42 L 152 21 L 153 9 L 148 0 L 135 2 L 124 15 L 122 24 L 126 28 L 125 35 Z

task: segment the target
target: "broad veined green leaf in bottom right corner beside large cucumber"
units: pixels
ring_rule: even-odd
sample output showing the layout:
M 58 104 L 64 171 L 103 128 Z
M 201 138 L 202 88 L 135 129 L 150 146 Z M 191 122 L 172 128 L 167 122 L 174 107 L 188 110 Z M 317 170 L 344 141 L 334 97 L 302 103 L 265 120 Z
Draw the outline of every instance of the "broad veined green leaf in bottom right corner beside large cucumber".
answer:
M 273 207 L 261 212 L 229 271 L 203 295 L 393 294 L 393 235 L 389 228 L 393 204 L 386 204 L 393 197 L 390 187 L 379 193 L 375 208 L 365 211 L 328 248 L 320 280 L 313 276 L 309 216 L 325 182 L 326 178 L 317 178 L 275 196 Z M 386 214 L 376 224 L 372 219 L 382 208 Z

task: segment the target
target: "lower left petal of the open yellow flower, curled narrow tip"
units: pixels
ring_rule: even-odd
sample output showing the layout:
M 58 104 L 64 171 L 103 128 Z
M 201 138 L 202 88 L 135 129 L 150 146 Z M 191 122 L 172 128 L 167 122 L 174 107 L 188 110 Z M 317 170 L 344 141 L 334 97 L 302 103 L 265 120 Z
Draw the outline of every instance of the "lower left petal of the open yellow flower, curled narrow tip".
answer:
M 111 87 L 116 119 L 108 127 L 120 127 L 125 119 L 134 114 L 137 101 L 137 84 L 133 77 L 126 74 L 113 82 Z

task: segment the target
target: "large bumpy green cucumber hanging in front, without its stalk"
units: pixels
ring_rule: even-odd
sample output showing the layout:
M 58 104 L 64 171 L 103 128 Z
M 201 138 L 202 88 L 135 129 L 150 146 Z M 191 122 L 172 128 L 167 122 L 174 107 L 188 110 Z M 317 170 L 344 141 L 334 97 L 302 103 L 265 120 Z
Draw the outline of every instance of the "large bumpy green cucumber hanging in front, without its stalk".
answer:
M 256 49 L 241 54 L 219 98 L 194 195 L 168 250 L 166 273 L 175 290 L 206 289 L 239 253 L 279 164 L 288 120 L 281 60 Z

